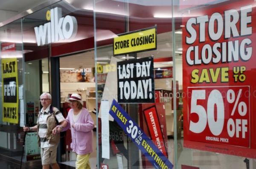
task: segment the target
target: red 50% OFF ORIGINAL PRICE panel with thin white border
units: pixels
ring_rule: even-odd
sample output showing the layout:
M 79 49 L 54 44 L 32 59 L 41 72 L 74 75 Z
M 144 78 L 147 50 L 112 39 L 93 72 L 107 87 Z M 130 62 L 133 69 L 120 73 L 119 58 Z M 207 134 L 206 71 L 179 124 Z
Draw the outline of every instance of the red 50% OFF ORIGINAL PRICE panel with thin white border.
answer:
M 189 87 L 188 138 L 250 147 L 250 87 Z

